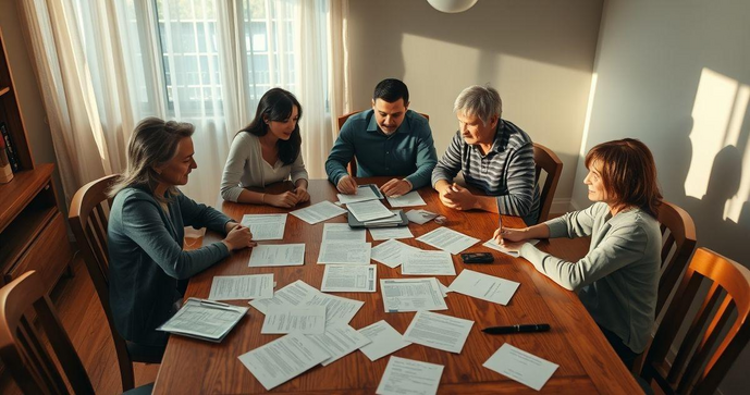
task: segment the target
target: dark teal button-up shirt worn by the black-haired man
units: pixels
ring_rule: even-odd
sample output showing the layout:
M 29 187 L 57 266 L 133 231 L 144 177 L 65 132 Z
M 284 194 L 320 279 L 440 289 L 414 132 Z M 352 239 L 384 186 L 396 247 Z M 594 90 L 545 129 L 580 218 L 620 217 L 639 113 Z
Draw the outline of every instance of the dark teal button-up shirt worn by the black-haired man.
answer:
M 411 110 L 391 135 L 380 131 L 373 110 L 346 120 L 325 161 L 325 173 L 333 184 L 347 174 L 346 164 L 353 157 L 357 158 L 357 176 L 406 175 L 414 189 L 430 184 L 438 163 L 430 124 Z

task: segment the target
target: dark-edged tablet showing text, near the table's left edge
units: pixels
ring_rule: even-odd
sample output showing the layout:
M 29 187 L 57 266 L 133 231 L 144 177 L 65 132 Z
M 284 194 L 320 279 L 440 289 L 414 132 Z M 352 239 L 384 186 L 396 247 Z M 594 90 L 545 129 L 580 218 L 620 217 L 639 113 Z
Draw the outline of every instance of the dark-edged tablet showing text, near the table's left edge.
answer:
M 219 343 L 247 310 L 221 301 L 187 298 L 177 313 L 157 330 Z

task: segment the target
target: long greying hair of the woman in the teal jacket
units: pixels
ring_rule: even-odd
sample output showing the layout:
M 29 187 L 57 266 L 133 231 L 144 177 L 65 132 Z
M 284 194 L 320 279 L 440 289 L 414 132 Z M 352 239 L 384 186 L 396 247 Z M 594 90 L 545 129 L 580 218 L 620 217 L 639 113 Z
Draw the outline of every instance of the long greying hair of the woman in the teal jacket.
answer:
M 108 195 L 114 198 L 128 186 L 142 186 L 153 192 L 159 184 L 159 174 L 153 168 L 162 165 L 177 155 L 180 140 L 190 137 L 195 132 L 193 124 L 185 122 L 164 122 L 158 118 L 147 118 L 135 127 L 127 144 L 127 169 L 112 185 Z M 177 195 L 176 187 L 169 188 L 169 195 Z M 165 202 L 169 198 L 156 196 Z

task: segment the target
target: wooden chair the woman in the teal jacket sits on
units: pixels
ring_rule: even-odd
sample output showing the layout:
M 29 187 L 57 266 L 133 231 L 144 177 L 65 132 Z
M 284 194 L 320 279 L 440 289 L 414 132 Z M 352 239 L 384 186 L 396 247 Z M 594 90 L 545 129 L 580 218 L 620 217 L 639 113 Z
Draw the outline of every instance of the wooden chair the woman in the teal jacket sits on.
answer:
M 114 342 L 114 350 L 118 355 L 122 388 L 127 391 L 135 385 L 134 361 L 159 363 L 161 359 L 143 353 L 135 345 L 128 344 L 114 328 L 112 310 L 109 305 L 109 252 L 107 250 L 107 224 L 112 201 L 107 197 L 107 190 L 116 177 L 116 174 L 108 175 L 81 187 L 71 201 L 67 221 L 75 235 L 88 274 L 94 282 L 101 307 L 104 309 Z

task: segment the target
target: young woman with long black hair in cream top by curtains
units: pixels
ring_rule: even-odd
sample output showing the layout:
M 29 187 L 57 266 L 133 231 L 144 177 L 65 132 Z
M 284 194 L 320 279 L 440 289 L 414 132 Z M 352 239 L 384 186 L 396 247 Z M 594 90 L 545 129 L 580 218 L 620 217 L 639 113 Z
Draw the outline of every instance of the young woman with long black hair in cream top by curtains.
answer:
M 307 171 L 300 151 L 299 101 L 291 92 L 273 88 L 260 98 L 255 119 L 232 141 L 221 177 L 221 197 L 243 203 L 290 208 L 310 200 Z M 292 177 L 295 189 L 266 194 L 246 189 Z

